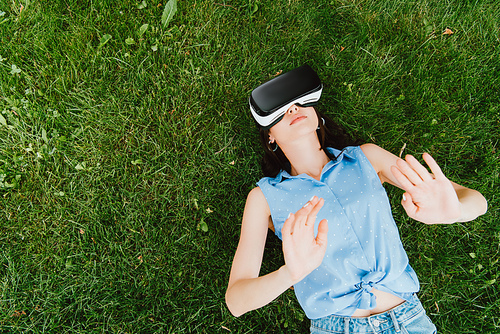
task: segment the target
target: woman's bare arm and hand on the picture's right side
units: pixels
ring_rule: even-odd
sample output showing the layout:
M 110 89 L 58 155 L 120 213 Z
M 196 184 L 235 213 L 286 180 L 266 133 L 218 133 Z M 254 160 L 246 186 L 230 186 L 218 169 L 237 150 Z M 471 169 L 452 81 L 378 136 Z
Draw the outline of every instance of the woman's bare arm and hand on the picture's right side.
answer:
M 389 182 L 405 191 L 403 205 L 408 216 L 425 224 L 450 224 L 474 220 L 486 213 L 484 196 L 473 189 L 451 182 L 427 153 L 427 171 L 417 159 L 405 160 L 374 144 L 361 146 L 382 183 Z

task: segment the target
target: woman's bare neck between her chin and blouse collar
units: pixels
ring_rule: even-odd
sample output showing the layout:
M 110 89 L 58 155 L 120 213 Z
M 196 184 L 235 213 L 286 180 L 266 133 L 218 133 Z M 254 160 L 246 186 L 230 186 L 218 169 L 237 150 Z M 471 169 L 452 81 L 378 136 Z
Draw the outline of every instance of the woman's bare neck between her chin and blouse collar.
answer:
M 316 134 L 280 147 L 290 161 L 291 175 L 307 174 L 319 180 L 323 167 L 330 161 L 326 152 L 321 149 Z

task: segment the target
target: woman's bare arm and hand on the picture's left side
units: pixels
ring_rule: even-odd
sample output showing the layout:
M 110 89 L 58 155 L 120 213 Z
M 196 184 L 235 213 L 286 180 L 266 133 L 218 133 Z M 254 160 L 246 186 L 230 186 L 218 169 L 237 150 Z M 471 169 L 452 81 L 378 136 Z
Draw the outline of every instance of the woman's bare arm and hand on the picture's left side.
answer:
M 269 304 L 321 264 L 328 226 L 321 222 L 314 238 L 314 220 L 322 205 L 315 197 L 290 215 L 282 229 L 285 265 L 259 277 L 271 213 L 260 188 L 248 194 L 226 291 L 226 304 L 234 316 Z

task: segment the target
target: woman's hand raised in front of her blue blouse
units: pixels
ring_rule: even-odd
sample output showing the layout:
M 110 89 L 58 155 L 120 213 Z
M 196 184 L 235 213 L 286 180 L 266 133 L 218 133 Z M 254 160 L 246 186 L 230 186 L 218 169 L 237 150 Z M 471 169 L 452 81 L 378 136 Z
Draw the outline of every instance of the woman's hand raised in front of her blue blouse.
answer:
M 281 229 L 285 268 L 293 284 L 319 267 L 327 246 L 328 222 L 323 219 L 314 237 L 316 215 L 325 201 L 314 196 L 295 214 L 290 214 Z

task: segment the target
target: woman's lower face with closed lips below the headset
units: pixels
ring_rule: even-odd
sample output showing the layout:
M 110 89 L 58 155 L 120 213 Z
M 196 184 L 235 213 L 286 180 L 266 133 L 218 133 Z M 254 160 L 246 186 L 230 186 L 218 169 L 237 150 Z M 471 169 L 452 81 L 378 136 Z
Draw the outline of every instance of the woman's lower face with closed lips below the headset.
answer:
M 291 143 L 304 135 L 316 135 L 317 128 L 318 116 L 314 108 L 294 104 L 283 119 L 269 129 L 269 140 L 281 146 L 282 143 Z

